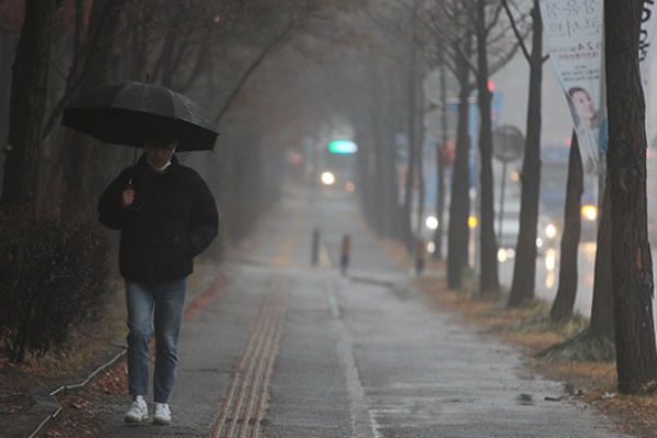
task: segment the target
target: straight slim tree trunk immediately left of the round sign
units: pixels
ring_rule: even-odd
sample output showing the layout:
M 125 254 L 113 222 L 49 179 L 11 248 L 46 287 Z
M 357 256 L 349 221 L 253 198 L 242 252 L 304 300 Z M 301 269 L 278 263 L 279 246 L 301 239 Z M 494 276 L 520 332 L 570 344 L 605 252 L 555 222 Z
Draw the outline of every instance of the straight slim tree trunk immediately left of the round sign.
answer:
M 481 164 L 481 276 L 482 293 L 499 291 L 497 243 L 495 241 L 495 208 L 493 194 L 493 119 L 488 90 L 487 37 L 485 32 L 485 0 L 477 0 L 477 100 L 480 110 L 480 164 Z

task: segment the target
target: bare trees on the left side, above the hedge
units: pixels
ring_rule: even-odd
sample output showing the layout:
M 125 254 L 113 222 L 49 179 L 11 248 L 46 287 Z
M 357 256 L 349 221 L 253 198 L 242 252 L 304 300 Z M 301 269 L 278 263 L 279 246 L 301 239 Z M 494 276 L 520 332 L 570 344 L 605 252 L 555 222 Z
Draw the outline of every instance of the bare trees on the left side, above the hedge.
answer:
M 251 176 L 262 175 L 257 161 L 268 153 L 263 138 L 273 127 L 261 108 L 288 99 L 264 83 L 293 69 L 277 57 L 298 57 L 325 37 L 313 34 L 313 23 L 331 26 L 349 8 L 349 0 L 2 2 L 0 54 L 8 61 L 0 74 L 11 80 L 0 84 L 0 135 L 8 139 L 0 205 L 93 216 L 99 188 L 132 151 L 99 147 L 58 120 L 80 91 L 119 80 L 170 87 L 205 107 L 221 132 L 208 169 L 220 204 L 260 205 L 269 196 L 257 191 L 270 185 L 254 185 Z M 253 172 L 238 172 L 244 168 Z M 231 239 L 243 234 L 234 231 Z

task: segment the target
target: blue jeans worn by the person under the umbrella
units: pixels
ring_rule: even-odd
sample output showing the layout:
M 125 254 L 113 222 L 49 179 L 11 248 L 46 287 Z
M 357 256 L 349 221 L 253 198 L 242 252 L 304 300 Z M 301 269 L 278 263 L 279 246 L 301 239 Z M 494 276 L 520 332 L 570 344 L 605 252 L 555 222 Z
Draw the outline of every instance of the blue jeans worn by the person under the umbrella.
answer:
M 186 278 L 155 286 L 126 281 L 130 395 L 148 394 L 152 316 L 155 328 L 153 401 L 169 403 L 175 381 L 177 339 L 183 322 L 186 290 Z

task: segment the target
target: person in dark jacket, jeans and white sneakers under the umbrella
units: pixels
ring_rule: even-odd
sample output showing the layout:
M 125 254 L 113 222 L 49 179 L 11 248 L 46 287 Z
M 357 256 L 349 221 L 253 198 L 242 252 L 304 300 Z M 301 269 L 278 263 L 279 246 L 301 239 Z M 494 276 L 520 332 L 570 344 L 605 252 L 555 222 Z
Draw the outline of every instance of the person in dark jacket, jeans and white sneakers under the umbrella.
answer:
M 177 339 L 193 258 L 217 237 L 219 217 L 207 184 L 178 163 L 176 141 L 149 139 L 146 153 L 125 169 L 99 203 L 101 223 L 120 230 L 119 272 L 128 311 L 126 423 L 148 419 L 150 341 L 154 326 L 153 423 L 171 424 Z M 152 319 L 152 325 L 151 325 Z

